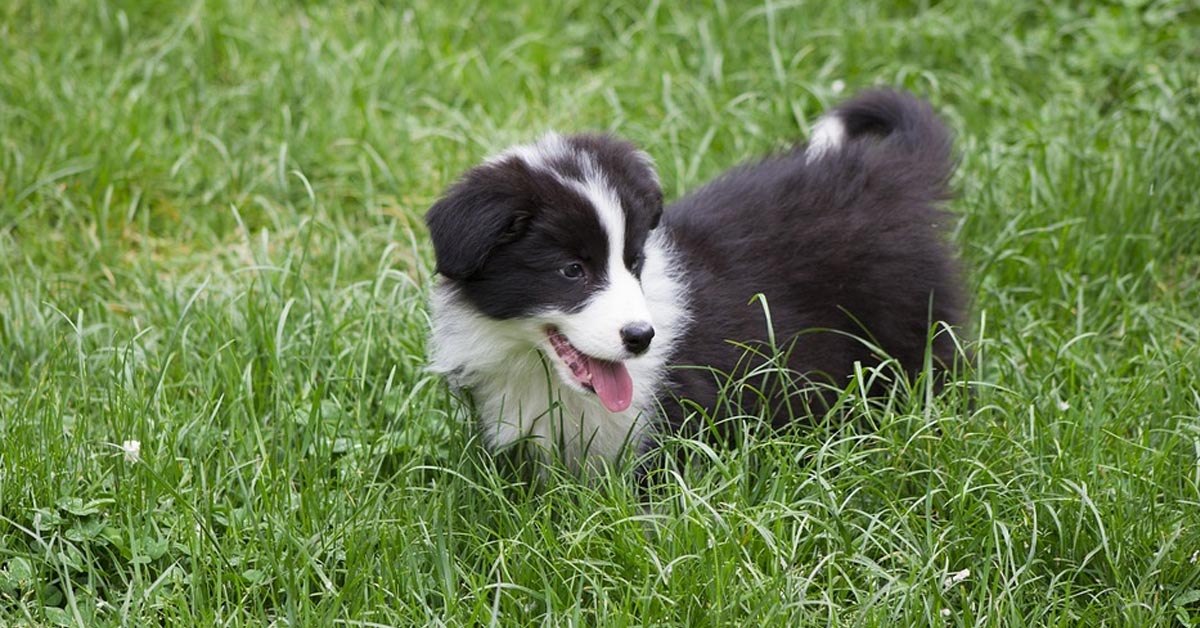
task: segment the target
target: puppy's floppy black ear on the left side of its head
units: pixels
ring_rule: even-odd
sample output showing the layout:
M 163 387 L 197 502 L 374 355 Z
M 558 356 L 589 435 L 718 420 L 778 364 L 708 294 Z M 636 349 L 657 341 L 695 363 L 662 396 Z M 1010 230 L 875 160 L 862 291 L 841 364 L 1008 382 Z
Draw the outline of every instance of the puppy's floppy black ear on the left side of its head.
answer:
M 482 268 L 497 245 L 524 234 L 533 203 L 521 173 L 504 165 L 468 172 L 425 214 L 438 273 L 463 280 Z

